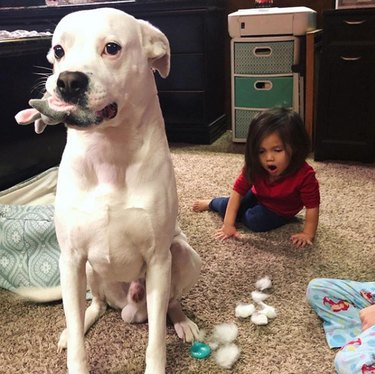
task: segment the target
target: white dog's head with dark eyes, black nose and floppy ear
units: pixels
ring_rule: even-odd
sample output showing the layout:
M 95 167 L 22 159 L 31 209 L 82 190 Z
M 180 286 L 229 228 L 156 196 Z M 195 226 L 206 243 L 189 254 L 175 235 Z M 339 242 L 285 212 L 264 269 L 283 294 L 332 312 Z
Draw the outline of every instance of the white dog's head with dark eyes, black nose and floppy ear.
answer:
M 53 64 L 46 82 L 49 105 L 69 112 L 64 121 L 75 128 L 115 125 L 120 111 L 156 97 L 153 70 L 166 77 L 170 68 L 166 36 L 111 8 L 65 16 L 47 58 Z

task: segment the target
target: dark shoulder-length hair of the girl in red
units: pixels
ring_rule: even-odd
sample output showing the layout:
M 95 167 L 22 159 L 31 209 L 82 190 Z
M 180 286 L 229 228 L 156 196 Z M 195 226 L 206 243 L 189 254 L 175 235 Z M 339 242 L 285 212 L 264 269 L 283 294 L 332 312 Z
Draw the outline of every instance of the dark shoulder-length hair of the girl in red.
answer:
M 263 139 L 276 132 L 290 157 L 283 176 L 293 174 L 305 162 L 310 151 L 310 139 L 300 115 L 286 108 L 273 108 L 260 112 L 250 123 L 245 148 L 245 177 L 253 183 L 256 175 L 266 175 L 259 160 Z

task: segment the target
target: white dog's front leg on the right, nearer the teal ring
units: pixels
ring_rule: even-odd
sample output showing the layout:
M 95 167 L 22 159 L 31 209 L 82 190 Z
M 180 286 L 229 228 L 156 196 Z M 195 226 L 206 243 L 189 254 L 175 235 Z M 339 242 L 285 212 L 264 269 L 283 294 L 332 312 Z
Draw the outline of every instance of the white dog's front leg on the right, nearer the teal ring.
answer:
M 164 374 L 166 365 L 166 316 L 171 284 L 171 254 L 159 254 L 148 263 L 146 293 L 149 337 L 145 374 Z

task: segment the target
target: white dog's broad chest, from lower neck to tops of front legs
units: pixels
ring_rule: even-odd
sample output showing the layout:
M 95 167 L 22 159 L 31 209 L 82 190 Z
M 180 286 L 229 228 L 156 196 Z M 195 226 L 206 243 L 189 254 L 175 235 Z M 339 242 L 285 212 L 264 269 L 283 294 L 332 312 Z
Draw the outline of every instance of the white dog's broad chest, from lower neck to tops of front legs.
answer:
M 152 163 L 141 149 L 130 156 L 112 137 L 95 147 L 84 140 L 71 133 L 60 165 L 59 244 L 62 251 L 81 253 L 107 278 L 130 281 L 155 248 L 169 250 L 177 215 L 171 160 L 165 150 Z

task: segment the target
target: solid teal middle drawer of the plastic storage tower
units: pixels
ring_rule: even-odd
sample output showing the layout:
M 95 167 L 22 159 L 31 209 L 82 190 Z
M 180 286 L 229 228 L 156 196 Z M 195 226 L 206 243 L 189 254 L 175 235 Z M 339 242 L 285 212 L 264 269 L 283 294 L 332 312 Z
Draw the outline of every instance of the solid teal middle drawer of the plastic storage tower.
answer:
M 235 77 L 234 106 L 293 107 L 293 77 Z

